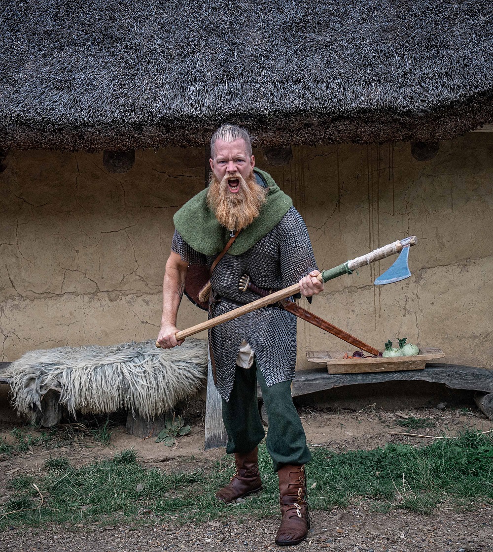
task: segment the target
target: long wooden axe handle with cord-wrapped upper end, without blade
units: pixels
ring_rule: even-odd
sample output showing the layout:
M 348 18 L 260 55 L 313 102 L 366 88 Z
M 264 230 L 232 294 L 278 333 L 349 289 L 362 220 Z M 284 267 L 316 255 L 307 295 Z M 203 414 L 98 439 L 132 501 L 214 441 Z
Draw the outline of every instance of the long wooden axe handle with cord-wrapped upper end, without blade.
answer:
M 379 247 L 378 249 L 367 253 L 363 257 L 357 257 L 352 261 L 347 261 L 343 264 L 340 264 L 338 267 L 332 268 L 331 270 L 324 270 L 321 274 L 317 276 L 317 279 L 320 282 L 327 282 L 328 280 L 331 280 L 332 278 L 337 278 L 338 276 L 342 276 L 343 274 L 351 274 L 353 270 L 356 270 L 356 268 L 363 267 L 366 264 L 374 263 L 375 261 L 379 261 L 380 259 L 385 259 L 385 257 L 389 257 L 392 254 L 400 253 L 404 245 L 415 245 L 416 242 L 417 237 L 412 236 L 410 238 L 406 238 L 405 240 L 398 240 L 384 247 Z M 243 314 L 247 314 L 248 312 L 253 312 L 254 310 L 261 309 L 261 307 L 266 307 L 268 305 L 271 305 L 272 303 L 276 303 L 281 299 L 291 297 L 291 295 L 295 295 L 296 293 L 298 293 L 298 291 L 300 291 L 299 283 L 290 285 L 289 288 L 280 289 L 279 291 L 275 291 L 274 293 L 271 293 L 266 297 L 261 297 L 256 301 L 252 301 L 251 303 L 242 305 L 238 307 L 238 309 L 233 309 L 232 311 L 225 312 L 224 314 L 211 318 L 206 322 L 201 322 L 200 324 L 192 326 L 191 328 L 187 328 L 187 330 L 177 332 L 176 339 L 177 341 L 181 341 L 182 339 L 193 336 L 198 332 L 208 330 L 209 328 L 213 328 L 214 326 L 219 326 L 219 324 L 222 324 L 223 322 L 228 322 L 229 320 L 238 318 L 238 316 L 242 316 Z M 157 341 L 156 347 L 160 347 Z

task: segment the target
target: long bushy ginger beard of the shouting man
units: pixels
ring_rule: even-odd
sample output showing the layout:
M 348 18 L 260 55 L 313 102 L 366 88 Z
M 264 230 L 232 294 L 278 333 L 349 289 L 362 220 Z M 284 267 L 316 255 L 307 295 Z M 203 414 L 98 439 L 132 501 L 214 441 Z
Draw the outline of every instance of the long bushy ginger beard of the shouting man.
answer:
M 228 188 L 228 179 L 238 178 L 238 192 L 232 193 Z M 207 192 L 207 205 L 216 215 L 221 226 L 228 230 L 242 230 L 250 225 L 260 213 L 265 203 L 266 190 L 255 180 L 254 172 L 245 179 L 239 172 L 226 174 L 219 181 L 214 173 Z

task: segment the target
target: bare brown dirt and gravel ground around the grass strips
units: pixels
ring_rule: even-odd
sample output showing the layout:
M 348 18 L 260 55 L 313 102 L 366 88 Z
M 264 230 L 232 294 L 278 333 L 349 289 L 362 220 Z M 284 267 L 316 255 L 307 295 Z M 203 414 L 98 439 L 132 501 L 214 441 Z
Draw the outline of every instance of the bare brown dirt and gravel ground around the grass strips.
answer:
M 406 417 L 429 418 L 436 427 L 410 430 L 410 433 L 428 437 L 440 432 L 455 435 L 464 428 L 488 431 L 493 423 L 480 412 L 459 410 L 375 410 L 372 406 L 359 412 L 300 410 L 308 443 L 323 445 L 337 452 L 354 449 L 372 449 L 388 442 L 423 444 L 429 438 L 403 436 L 408 429 L 398 425 Z M 118 450 L 133 447 L 139 461 L 148 467 L 164 470 L 190 469 L 212 466 L 224 455 L 223 449 L 203 450 L 204 429 L 200 416 L 191 423 L 192 431 L 180 439 L 176 447 L 155 443 L 153 438 L 139 439 L 125 433 L 123 426 L 113 428 L 111 444 L 87 448 L 74 442 L 54 450 L 34 447 L 13 458 L 0 458 L 0 494 L 6 496 L 8 480 L 20 474 L 36 474 L 51 456 L 66 455 L 74 464 L 88 463 L 103 457 L 112 457 Z M 0 435 L 12 439 L 12 425 L 3 424 Z M 32 432 L 33 436 L 35 432 Z M 234 508 L 234 506 L 232 506 Z M 312 530 L 306 542 L 294 550 L 341 550 L 351 552 L 399 551 L 493 551 L 493 512 L 490 505 L 479 505 L 473 512 L 457 513 L 443 506 L 431 516 L 421 516 L 402 509 L 388 513 L 370 511 L 364 502 L 331 512 L 313 512 Z M 258 521 L 234 519 L 225 522 L 180 523 L 180 519 L 160 519 L 156 525 L 114 526 L 99 528 L 56 527 L 10 528 L 0 535 L 0 550 L 17 551 L 97 551 L 130 552 L 146 550 L 218 550 L 264 551 L 274 550 L 278 519 Z

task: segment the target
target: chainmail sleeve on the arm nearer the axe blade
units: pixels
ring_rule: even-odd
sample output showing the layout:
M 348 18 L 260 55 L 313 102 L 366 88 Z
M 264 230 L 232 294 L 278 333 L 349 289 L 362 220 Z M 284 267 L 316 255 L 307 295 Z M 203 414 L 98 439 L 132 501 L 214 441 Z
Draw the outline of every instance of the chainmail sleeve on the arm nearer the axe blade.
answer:
M 287 288 L 299 282 L 312 270 L 317 270 L 318 267 L 310 236 L 300 213 L 291 207 L 280 224 L 282 225 L 279 244 L 282 286 Z

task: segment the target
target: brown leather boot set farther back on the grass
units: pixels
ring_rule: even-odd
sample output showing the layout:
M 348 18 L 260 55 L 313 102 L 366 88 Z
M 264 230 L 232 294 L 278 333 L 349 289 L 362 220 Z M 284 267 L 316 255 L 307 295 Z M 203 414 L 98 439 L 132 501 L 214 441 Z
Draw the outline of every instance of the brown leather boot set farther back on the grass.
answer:
M 217 500 L 226 504 L 262 490 L 258 448 L 255 447 L 248 454 L 234 453 L 234 460 L 236 473 L 230 479 L 228 485 L 216 493 Z

